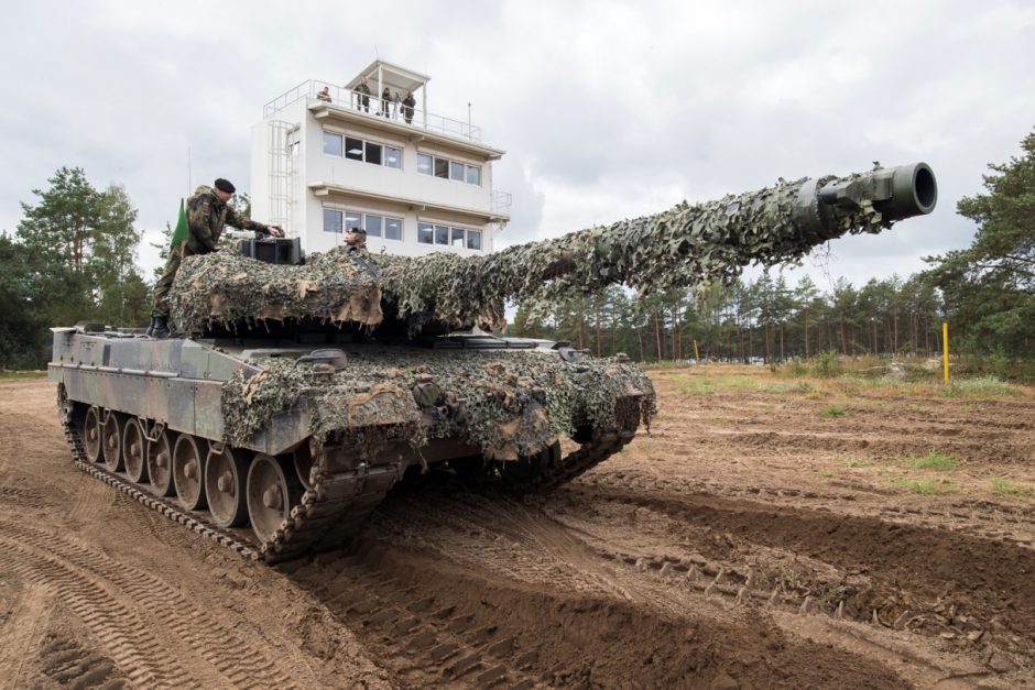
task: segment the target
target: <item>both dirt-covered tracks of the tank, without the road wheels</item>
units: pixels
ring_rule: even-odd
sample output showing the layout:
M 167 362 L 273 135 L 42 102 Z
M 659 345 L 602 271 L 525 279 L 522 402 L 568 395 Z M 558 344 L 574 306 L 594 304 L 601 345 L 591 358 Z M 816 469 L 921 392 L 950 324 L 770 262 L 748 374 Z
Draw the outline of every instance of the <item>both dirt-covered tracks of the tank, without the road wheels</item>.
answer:
M 70 417 L 63 421 L 63 426 L 76 469 L 243 558 L 266 563 L 339 547 L 356 534 L 360 523 L 381 503 L 401 477 L 397 463 L 374 467 L 361 463 L 348 472 L 324 472 L 322 468 L 326 467 L 325 456 L 320 454 L 314 462 L 316 470 L 313 472 L 313 486 L 305 491 L 302 501 L 292 508 L 291 517 L 284 521 L 273 539 L 259 545 L 208 523 L 198 513 L 183 508 L 173 500 L 155 496 L 129 480 L 90 463 L 81 434 Z M 635 426 L 632 429 L 598 430 L 590 442 L 565 456 L 563 461 L 548 463 L 527 481 L 512 482 L 508 489 L 519 494 L 549 491 L 607 460 L 632 440 L 633 436 Z

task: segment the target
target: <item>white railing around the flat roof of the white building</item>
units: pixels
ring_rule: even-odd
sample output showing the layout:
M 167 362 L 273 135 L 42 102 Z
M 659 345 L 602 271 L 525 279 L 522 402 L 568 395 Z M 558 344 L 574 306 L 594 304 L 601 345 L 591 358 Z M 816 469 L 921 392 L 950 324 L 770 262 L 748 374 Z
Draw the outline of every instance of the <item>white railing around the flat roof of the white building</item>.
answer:
M 461 122 L 460 120 L 454 120 L 445 116 L 425 112 L 416 106 L 407 108 L 403 105 L 402 99 L 404 97 L 400 94 L 393 92 L 391 98 L 382 99 L 377 94 L 367 96 L 316 79 L 303 81 L 295 88 L 288 89 L 268 102 L 262 107 L 262 117 L 268 118 L 288 103 L 293 103 L 303 98 L 306 100 L 326 101 L 331 106 L 347 108 L 371 117 L 386 118 L 393 122 L 418 130 L 440 132 L 459 139 L 469 139 L 470 141 L 481 141 L 480 127 L 475 127 L 470 122 Z

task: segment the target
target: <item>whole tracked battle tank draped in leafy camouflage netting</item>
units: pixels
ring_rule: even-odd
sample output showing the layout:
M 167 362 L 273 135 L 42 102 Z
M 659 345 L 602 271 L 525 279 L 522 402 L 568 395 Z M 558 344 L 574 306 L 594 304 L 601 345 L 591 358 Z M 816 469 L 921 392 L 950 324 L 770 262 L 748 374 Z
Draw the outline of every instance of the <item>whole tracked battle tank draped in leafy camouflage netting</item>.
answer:
M 55 328 L 50 376 L 77 467 L 272 562 L 340 545 L 407 471 L 545 491 L 650 424 L 651 382 L 624 355 L 483 335 L 503 327 L 504 300 L 548 311 L 614 283 L 728 281 L 936 199 L 917 163 L 477 258 L 337 248 L 303 262 L 297 240 L 248 241 L 184 261 L 181 336 Z

